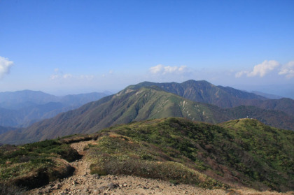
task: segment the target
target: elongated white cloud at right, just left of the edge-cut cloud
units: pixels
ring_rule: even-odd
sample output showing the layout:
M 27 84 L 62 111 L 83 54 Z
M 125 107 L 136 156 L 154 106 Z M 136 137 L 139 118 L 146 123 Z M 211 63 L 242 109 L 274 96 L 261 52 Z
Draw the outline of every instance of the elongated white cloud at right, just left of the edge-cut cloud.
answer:
M 273 71 L 275 68 L 280 66 L 279 62 L 276 62 L 275 60 L 265 60 L 261 64 L 255 65 L 253 67 L 253 71 L 239 71 L 235 74 L 236 78 L 241 77 L 242 75 L 247 75 L 247 77 L 253 77 L 253 76 L 260 76 L 264 77 L 267 73 L 270 71 Z

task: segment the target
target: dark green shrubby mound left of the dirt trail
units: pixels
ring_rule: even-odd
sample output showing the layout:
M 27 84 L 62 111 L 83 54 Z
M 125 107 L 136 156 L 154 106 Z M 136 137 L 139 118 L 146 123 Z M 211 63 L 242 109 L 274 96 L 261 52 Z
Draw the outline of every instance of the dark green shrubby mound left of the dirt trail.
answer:
M 80 155 L 58 140 L 44 140 L 27 145 L 0 147 L 0 182 L 23 187 L 38 187 L 50 180 L 72 173 L 67 161 Z M 65 161 L 66 160 L 66 161 Z

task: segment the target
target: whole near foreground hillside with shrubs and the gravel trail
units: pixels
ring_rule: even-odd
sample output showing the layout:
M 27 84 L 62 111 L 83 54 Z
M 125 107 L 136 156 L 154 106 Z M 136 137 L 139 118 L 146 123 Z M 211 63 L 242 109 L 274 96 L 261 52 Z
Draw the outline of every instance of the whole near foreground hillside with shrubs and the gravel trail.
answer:
M 121 181 L 120 177 L 109 176 L 130 175 L 165 180 L 174 185 L 220 189 L 218 192 L 221 194 L 244 188 L 288 192 L 294 187 L 293 143 L 293 131 L 269 127 L 258 120 L 231 120 L 214 125 L 169 117 L 132 122 L 90 135 L 68 136 L 18 147 L 2 146 L 0 184 L 20 184 L 19 181 L 26 178 L 25 184 L 30 188 L 52 182 L 34 191 L 41 194 L 58 194 L 65 192 L 65 189 L 67 193 L 78 193 L 85 186 L 89 186 L 91 192 L 96 190 L 102 193 L 106 189 L 116 188 L 97 187 L 99 183 L 105 185 L 107 181 L 119 183 L 118 190 L 137 189 L 138 185 L 130 186 L 132 178 Z M 83 159 L 74 161 L 78 159 L 78 155 L 74 152 L 76 150 L 70 150 L 69 145 L 83 154 Z M 71 158 L 66 159 L 69 157 Z M 65 166 L 67 160 L 74 161 L 67 164 L 69 168 L 66 168 L 76 168 L 73 177 L 57 180 L 67 177 L 66 174 L 69 173 L 56 172 L 49 174 L 48 180 L 43 180 L 43 183 L 30 182 L 31 178 L 38 180 L 41 177 L 36 176 L 42 175 L 38 171 L 48 174 L 51 172 L 42 171 L 46 168 L 62 170 L 57 168 L 58 164 L 50 164 L 52 158 L 62 162 L 60 166 Z M 23 169 L 29 171 L 27 167 L 33 168 L 33 163 L 38 165 L 40 159 L 47 162 L 45 169 L 35 166 L 36 174 L 27 175 L 29 172 Z M 15 168 L 18 171 L 13 171 Z M 153 183 L 152 180 L 148 182 Z M 148 182 L 144 183 L 148 186 Z M 132 183 L 134 184 L 133 181 Z M 160 183 L 162 182 L 158 185 L 162 187 Z M 183 189 L 192 192 L 196 190 L 190 187 Z M 222 191 L 223 189 L 227 190 Z M 180 189 L 177 190 L 179 193 Z M 197 190 L 200 192 L 200 189 Z

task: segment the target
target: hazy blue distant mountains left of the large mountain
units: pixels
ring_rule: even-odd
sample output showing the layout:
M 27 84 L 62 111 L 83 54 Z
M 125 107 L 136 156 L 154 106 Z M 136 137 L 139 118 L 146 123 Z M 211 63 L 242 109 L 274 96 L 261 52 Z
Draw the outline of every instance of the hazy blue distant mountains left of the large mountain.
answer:
M 0 92 L 0 125 L 5 127 L 28 127 L 34 122 L 55 117 L 58 113 L 73 110 L 90 101 L 109 94 L 90 93 L 53 96 L 30 90 Z

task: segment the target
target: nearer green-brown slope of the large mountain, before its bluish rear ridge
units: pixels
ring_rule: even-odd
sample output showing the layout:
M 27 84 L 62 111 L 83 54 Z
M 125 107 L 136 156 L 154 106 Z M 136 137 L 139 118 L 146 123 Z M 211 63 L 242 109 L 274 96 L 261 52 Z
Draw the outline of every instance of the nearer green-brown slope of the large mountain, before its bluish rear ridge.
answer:
M 127 87 L 118 94 L 36 122 L 21 132 L 4 133 L 0 135 L 0 143 L 29 143 L 74 133 L 93 133 L 116 124 L 162 117 L 186 117 L 211 123 L 252 117 L 283 129 L 293 129 L 294 124 L 294 117 L 279 111 L 252 106 L 224 109 L 189 101 L 155 86 L 139 89 Z

